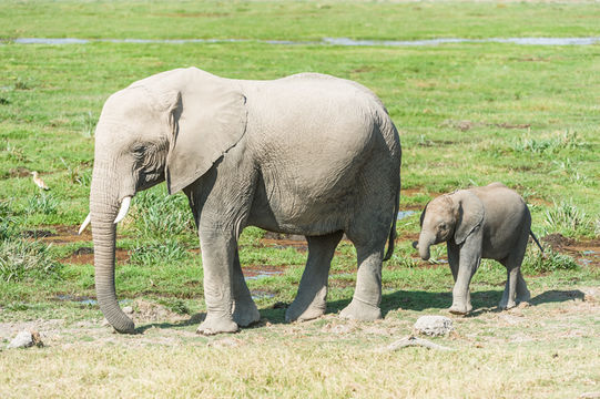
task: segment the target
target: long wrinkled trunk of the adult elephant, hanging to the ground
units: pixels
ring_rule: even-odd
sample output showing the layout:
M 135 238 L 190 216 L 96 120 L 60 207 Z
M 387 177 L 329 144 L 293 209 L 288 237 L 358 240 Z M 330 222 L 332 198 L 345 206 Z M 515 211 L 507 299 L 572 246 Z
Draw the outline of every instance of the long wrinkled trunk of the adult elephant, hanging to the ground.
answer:
M 94 243 L 95 293 L 104 317 L 119 332 L 133 334 L 134 324 L 119 307 L 114 288 L 114 260 L 119 212 L 119 181 L 109 178 L 109 167 L 95 161 L 90 194 Z

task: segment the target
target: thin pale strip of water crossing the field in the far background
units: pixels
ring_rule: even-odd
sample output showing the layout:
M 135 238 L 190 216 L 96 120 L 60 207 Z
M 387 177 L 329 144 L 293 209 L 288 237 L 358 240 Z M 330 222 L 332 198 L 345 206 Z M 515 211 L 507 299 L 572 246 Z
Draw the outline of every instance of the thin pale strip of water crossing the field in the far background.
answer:
M 599 44 L 600 37 L 591 38 L 440 38 L 426 40 L 360 40 L 349 38 L 323 38 L 318 41 L 255 40 L 255 39 L 78 39 L 78 38 L 18 38 L 0 41 L 16 44 L 88 44 L 88 43 L 134 43 L 134 44 L 186 44 L 186 43 L 245 43 L 256 42 L 274 45 L 343 45 L 343 47 L 427 47 L 455 43 L 508 43 L 518 45 L 590 45 Z

